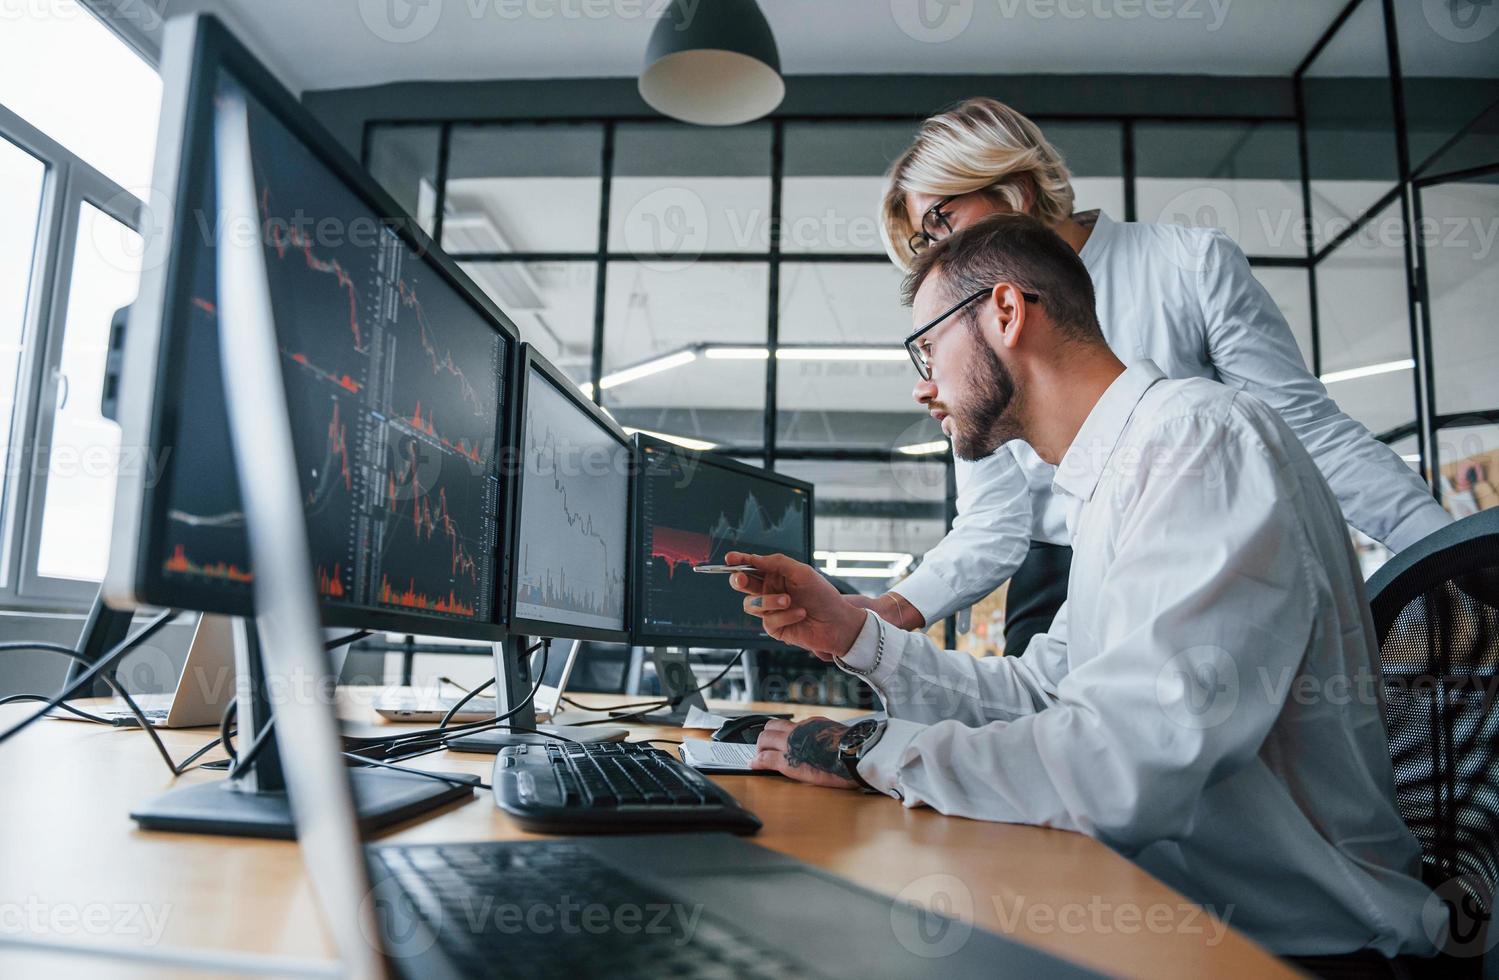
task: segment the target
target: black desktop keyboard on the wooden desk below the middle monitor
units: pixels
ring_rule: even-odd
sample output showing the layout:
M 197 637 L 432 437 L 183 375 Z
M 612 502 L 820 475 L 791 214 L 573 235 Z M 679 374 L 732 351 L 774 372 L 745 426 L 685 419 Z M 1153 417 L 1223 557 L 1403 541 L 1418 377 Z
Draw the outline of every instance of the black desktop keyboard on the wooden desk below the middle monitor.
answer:
M 526 830 L 732 830 L 760 821 L 676 757 L 628 742 L 513 745 L 495 757 L 495 803 Z

